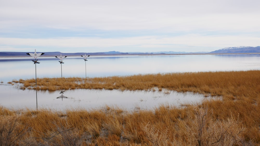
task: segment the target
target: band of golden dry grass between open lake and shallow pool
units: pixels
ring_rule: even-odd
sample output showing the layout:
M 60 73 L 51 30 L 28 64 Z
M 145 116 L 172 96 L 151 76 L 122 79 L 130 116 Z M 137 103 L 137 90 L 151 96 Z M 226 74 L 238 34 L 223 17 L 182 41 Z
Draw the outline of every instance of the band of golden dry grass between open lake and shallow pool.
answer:
M 100 78 L 40 78 L 39 90 L 56 91 L 62 89 L 120 89 L 153 90 L 169 89 L 178 92 L 196 92 L 224 98 L 240 98 L 259 93 L 260 71 L 239 72 L 199 72 L 146 74 L 123 77 Z M 35 79 L 21 81 L 25 88 L 35 89 Z

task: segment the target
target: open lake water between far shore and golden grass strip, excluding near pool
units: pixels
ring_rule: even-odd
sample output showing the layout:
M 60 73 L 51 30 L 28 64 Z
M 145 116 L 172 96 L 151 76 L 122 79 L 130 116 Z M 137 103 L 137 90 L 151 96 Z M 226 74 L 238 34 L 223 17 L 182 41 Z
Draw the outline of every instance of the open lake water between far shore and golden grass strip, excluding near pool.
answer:
M 222 55 L 153 55 L 153 56 L 90 56 L 67 57 L 62 67 L 62 77 L 108 77 L 134 74 L 204 72 L 204 71 L 244 71 L 260 68 L 259 54 Z M 21 61 L 23 60 L 23 61 Z M 55 57 L 41 57 L 37 66 L 37 78 L 60 78 L 60 64 Z M 0 58 L 0 80 L 30 79 L 34 68 L 28 58 Z M 83 66 L 85 65 L 85 69 Z M 19 72 L 19 74 L 17 74 Z

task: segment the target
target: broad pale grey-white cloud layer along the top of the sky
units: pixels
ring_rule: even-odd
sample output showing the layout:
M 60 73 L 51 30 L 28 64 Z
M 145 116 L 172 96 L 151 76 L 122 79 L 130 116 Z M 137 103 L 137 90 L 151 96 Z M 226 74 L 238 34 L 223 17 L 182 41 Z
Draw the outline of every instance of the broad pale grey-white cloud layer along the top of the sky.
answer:
M 258 29 L 256 26 L 260 24 L 257 19 L 260 17 L 260 10 L 257 4 L 260 3 L 250 2 L 15 1 L 3 3 L 0 7 L 0 18 L 5 27 L 14 25 L 101 30 L 167 28 L 173 31 L 203 28 Z

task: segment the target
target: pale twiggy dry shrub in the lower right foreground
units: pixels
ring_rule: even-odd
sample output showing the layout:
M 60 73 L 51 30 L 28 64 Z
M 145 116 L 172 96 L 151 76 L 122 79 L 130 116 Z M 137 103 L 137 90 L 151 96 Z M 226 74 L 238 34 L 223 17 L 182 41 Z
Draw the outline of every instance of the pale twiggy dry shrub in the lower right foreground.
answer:
M 181 123 L 178 133 L 184 134 L 186 145 L 242 145 L 243 139 L 242 122 L 233 116 L 226 120 L 213 120 L 208 109 L 194 107 L 194 113 L 189 114 L 187 121 Z M 180 124 L 180 125 L 181 125 Z

